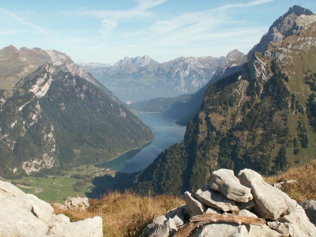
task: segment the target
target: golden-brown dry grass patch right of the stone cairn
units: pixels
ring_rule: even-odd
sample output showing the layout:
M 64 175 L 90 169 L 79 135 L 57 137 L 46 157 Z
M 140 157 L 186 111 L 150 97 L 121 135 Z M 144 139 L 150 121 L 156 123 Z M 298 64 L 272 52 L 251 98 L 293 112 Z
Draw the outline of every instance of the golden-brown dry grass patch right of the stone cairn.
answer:
M 289 168 L 275 176 L 265 177 L 270 183 L 295 179 L 293 184 L 282 185 L 282 191 L 298 202 L 316 199 L 316 160 L 299 167 Z

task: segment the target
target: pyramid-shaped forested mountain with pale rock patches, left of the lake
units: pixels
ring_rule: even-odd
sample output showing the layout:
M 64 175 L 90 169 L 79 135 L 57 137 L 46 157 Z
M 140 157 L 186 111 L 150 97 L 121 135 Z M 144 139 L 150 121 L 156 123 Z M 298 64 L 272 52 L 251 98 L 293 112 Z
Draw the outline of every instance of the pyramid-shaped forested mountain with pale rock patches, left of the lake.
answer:
M 69 57 L 20 79 L 0 111 L 0 176 L 97 163 L 153 139 L 151 130 Z

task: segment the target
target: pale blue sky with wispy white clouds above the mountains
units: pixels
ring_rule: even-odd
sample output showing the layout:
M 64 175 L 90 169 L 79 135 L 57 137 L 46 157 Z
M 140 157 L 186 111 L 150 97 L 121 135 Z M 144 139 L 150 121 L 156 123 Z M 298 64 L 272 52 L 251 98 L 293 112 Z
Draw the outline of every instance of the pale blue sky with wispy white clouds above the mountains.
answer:
M 315 0 L 1 0 L 0 48 L 56 49 L 99 63 L 247 53 L 294 4 L 316 11 Z

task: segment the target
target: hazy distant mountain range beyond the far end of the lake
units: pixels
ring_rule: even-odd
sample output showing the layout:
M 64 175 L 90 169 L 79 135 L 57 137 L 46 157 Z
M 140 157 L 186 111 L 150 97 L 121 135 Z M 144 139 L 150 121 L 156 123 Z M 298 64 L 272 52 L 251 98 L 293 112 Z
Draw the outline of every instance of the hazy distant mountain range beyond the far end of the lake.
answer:
M 194 93 L 204 86 L 224 58 L 177 58 L 159 64 L 148 56 L 124 58 L 102 70 L 90 70 L 120 100 L 143 101 Z

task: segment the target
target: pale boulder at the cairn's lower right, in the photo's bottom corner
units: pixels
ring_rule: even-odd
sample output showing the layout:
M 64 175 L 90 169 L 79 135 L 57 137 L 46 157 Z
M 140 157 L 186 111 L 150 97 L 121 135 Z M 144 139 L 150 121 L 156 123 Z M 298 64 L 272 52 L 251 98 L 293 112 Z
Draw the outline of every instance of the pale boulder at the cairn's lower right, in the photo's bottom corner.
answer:
M 279 221 L 287 223 L 291 237 L 314 237 L 316 236 L 316 227 L 308 219 L 303 207 L 299 204 L 296 209 L 279 218 Z

